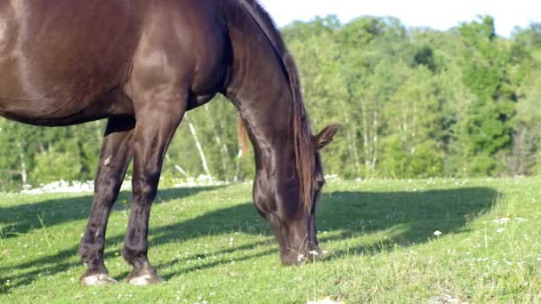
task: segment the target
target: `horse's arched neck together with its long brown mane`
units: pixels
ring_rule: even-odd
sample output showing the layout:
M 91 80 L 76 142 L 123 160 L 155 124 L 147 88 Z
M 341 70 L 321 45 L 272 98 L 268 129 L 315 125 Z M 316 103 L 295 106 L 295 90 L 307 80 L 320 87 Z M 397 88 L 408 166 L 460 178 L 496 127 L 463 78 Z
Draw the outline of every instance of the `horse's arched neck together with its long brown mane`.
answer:
M 302 99 L 297 96 L 295 63 L 261 9 L 246 10 L 235 5 L 237 0 L 223 1 L 230 4 L 230 10 L 224 11 L 232 62 L 226 92 L 251 134 L 259 180 L 278 178 L 289 189 L 295 188 L 291 182 L 298 183 L 301 200 L 311 206 L 314 150 Z

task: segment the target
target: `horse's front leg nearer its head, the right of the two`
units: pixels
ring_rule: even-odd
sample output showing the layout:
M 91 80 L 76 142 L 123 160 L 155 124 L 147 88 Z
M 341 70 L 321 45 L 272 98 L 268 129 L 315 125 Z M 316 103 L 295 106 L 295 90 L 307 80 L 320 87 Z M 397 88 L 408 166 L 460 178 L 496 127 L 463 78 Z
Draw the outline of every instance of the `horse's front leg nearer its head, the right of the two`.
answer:
M 150 206 L 157 194 L 166 149 L 186 110 L 186 95 L 149 102 L 136 110 L 133 153 L 133 203 L 122 256 L 133 266 L 130 284 L 157 284 L 162 279 L 147 256 Z

